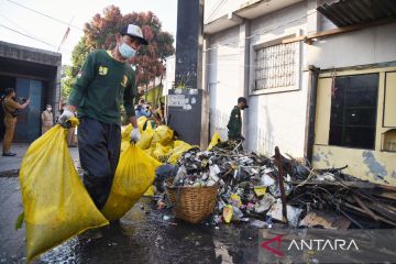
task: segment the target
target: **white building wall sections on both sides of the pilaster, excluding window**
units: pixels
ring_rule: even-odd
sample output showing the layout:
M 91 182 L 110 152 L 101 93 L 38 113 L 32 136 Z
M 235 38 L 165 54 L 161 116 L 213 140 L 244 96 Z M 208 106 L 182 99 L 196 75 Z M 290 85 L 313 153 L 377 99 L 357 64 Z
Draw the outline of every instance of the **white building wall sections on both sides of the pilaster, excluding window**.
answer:
M 304 1 L 286 9 L 252 20 L 250 32 L 244 35 L 243 25 L 208 37 L 207 74 L 210 96 L 210 134 L 219 132 L 227 139 L 227 123 L 238 97 L 249 94 L 249 110 L 244 114 L 244 131 L 249 151 L 272 155 L 274 146 L 296 157 L 304 156 L 308 74 L 301 73 L 306 65 L 304 45 L 299 45 L 299 78 L 292 91 L 252 92 L 254 80 L 253 52 L 245 61 L 244 41 L 249 48 L 288 35 L 307 31 L 307 8 Z M 249 81 L 245 84 L 244 69 Z

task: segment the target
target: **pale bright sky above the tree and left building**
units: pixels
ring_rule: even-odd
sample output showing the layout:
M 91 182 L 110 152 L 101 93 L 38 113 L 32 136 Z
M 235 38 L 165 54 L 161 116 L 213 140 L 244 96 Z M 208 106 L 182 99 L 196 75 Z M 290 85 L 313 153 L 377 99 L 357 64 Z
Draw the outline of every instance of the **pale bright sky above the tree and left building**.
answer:
M 18 3 L 53 19 L 22 8 Z M 0 41 L 56 52 L 67 23 L 73 21 L 68 37 L 59 50 L 63 64 L 69 64 L 72 51 L 82 36 L 79 29 L 110 4 L 119 7 L 123 14 L 152 11 L 162 21 L 163 30 L 176 38 L 177 0 L 0 0 Z

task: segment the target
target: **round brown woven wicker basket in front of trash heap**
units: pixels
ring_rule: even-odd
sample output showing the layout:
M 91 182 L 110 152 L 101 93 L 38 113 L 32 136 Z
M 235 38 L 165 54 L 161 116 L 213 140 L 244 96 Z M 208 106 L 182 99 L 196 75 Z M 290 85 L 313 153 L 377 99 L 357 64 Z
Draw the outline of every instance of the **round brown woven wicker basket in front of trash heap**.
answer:
M 217 202 L 218 186 L 185 187 L 172 186 L 173 179 L 166 182 L 166 191 L 174 205 L 176 218 L 190 223 L 198 223 L 212 213 Z

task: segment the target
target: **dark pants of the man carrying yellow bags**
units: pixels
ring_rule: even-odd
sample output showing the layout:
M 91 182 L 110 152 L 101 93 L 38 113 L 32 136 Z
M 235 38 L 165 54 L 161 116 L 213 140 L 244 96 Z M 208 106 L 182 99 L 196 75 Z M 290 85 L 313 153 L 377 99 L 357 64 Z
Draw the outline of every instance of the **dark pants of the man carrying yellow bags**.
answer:
M 103 208 L 120 158 L 121 129 L 117 124 L 82 118 L 78 127 L 78 151 L 84 185 L 95 205 Z

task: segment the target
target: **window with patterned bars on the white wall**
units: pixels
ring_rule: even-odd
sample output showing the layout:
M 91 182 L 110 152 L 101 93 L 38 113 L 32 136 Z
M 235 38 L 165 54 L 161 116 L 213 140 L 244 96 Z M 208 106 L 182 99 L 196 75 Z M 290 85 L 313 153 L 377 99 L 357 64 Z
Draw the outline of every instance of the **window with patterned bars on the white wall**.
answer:
M 298 43 L 277 44 L 255 50 L 254 89 L 293 87 L 297 82 Z

